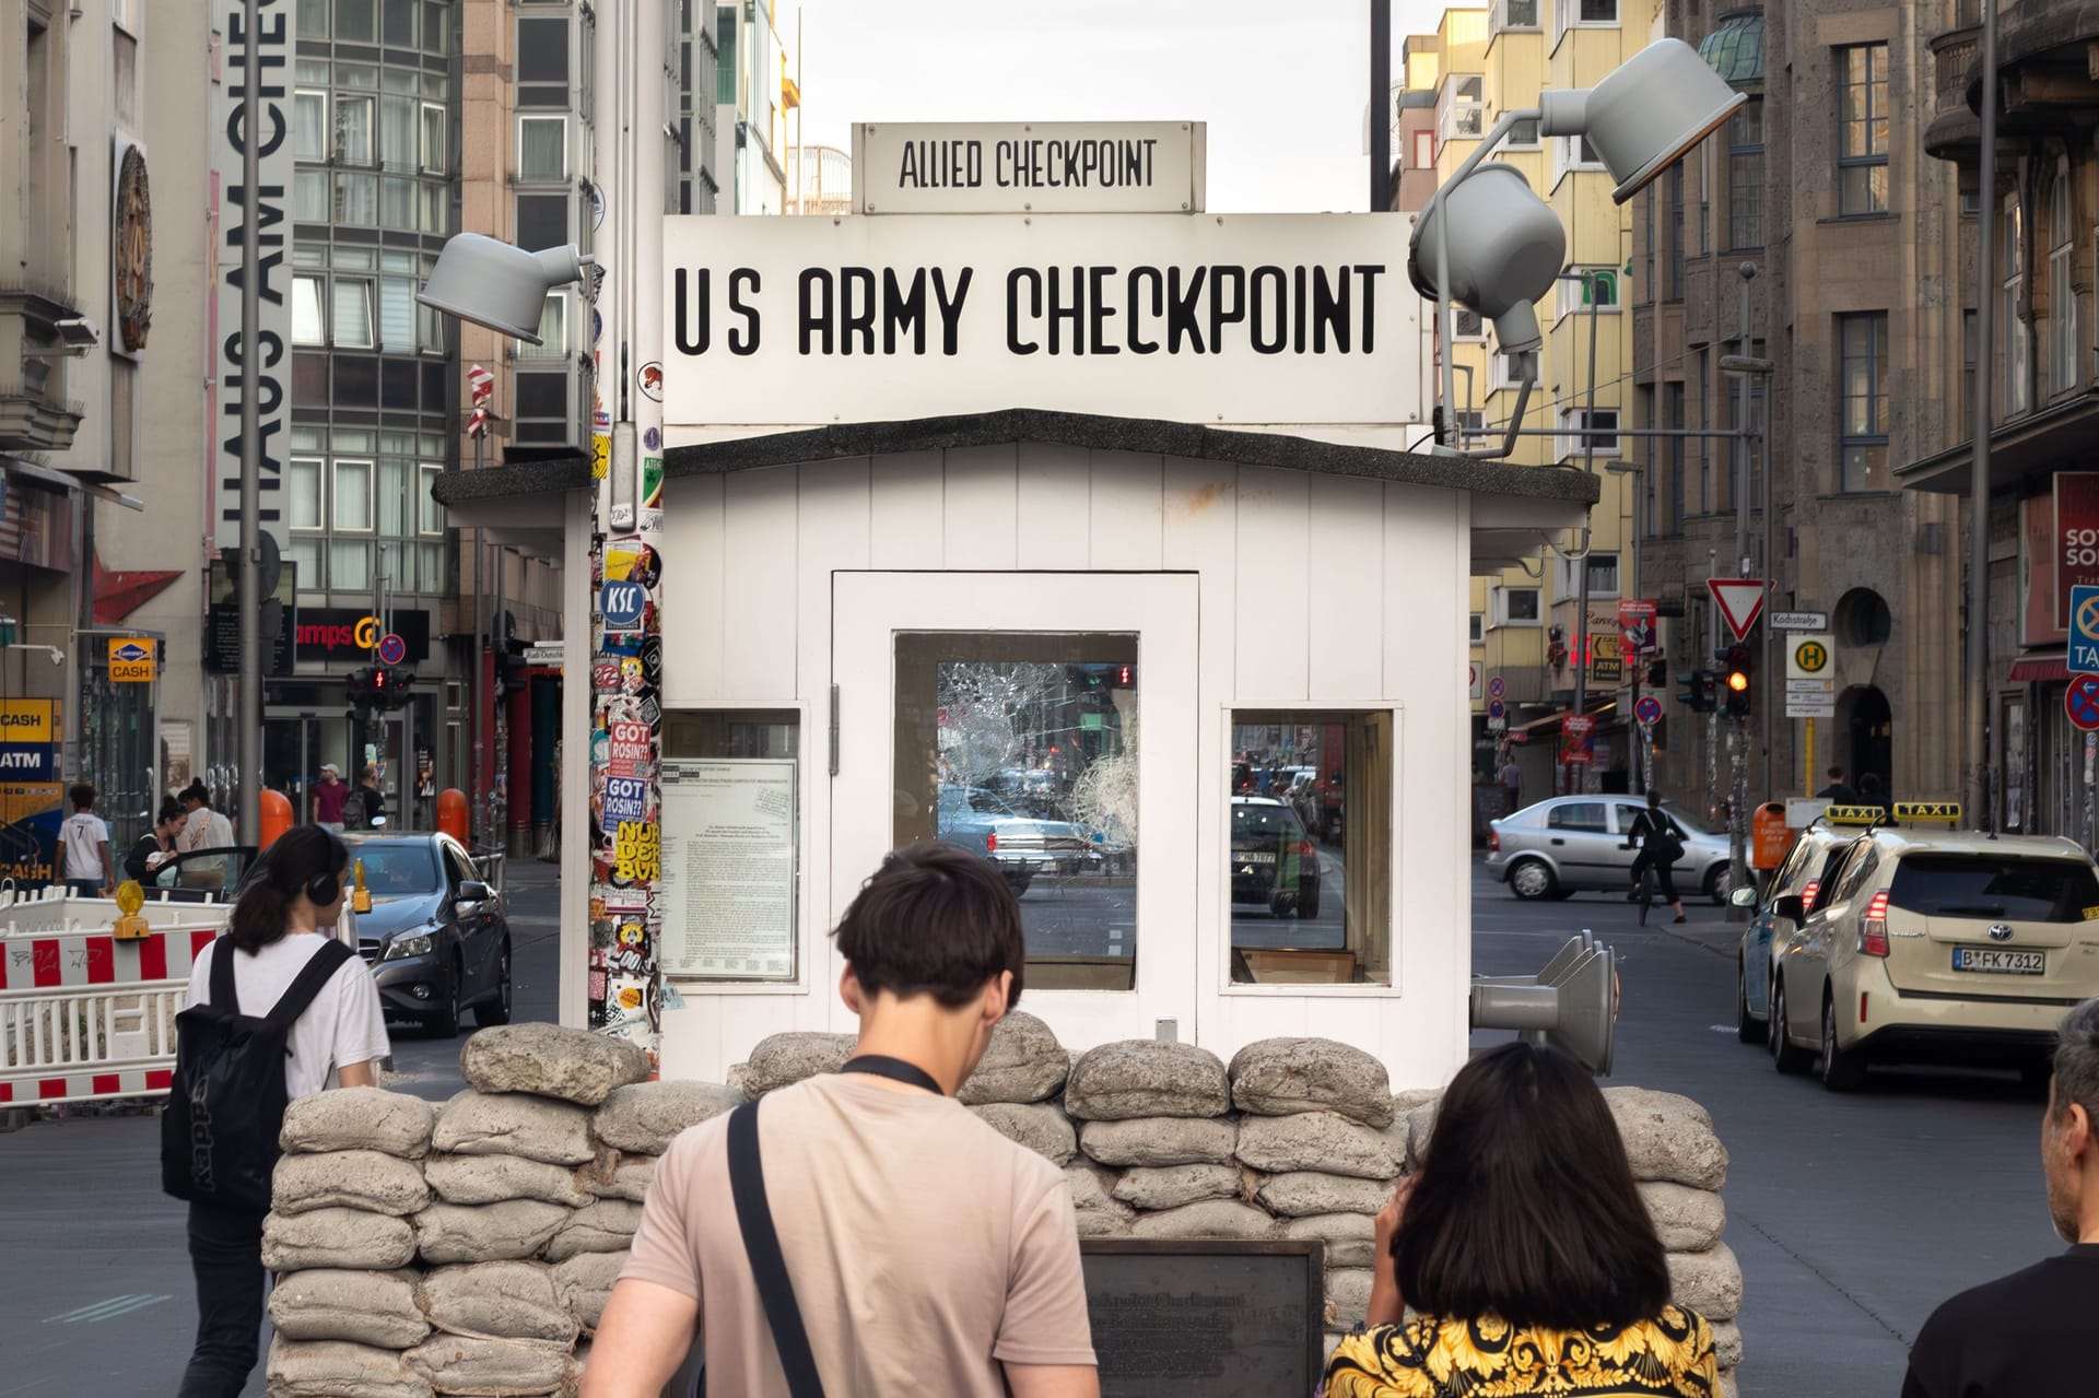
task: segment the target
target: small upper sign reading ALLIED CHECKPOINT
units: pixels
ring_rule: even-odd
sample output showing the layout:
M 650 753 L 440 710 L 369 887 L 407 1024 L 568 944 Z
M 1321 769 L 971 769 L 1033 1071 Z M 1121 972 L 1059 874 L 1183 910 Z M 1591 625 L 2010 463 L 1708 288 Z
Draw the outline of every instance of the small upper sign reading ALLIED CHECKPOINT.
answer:
M 852 212 L 1203 212 L 1203 122 L 861 122 Z

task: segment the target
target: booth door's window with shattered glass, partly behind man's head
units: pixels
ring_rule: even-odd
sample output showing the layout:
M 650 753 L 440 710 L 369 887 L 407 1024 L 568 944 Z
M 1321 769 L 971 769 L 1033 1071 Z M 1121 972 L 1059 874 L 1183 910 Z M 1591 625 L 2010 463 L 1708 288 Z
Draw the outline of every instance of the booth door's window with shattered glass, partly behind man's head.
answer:
M 1138 693 L 1129 634 L 896 636 L 894 844 L 999 871 L 1029 989 L 1136 987 Z

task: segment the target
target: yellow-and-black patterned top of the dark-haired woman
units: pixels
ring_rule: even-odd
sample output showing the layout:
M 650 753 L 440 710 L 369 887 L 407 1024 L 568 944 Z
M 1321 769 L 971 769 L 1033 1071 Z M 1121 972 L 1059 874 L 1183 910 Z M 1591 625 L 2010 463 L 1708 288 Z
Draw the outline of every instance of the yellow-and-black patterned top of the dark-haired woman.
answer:
M 1591 1331 L 1408 1318 L 1345 1337 L 1327 1398 L 1717 1398 L 1713 1329 L 1667 1306 L 1654 1320 Z

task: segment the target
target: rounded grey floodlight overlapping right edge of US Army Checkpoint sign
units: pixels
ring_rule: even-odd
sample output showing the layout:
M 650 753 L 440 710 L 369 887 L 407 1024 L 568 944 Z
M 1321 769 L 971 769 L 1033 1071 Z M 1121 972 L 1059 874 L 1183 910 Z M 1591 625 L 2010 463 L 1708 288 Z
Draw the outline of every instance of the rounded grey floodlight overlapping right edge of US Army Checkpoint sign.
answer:
M 1425 241 L 1436 237 L 1438 218 L 1450 220 L 1448 288 L 1436 285 L 1438 246 Z M 1450 300 L 1494 321 L 1497 346 L 1515 355 L 1545 342 L 1536 302 L 1553 290 L 1566 256 L 1568 233 L 1553 210 L 1522 170 L 1494 162 L 1453 185 L 1415 220 L 1406 275 L 1425 298 L 1446 290 Z

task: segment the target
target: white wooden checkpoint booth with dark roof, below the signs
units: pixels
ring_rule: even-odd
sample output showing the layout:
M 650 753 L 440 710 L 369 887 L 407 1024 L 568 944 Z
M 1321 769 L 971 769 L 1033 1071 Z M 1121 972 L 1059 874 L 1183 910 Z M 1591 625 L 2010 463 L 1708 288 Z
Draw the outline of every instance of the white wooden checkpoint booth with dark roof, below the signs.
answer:
M 665 1077 L 850 1033 L 831 928 L 926 838 L 1020 894 L 1020 1008 L 1066 1047 L 1322 1035 L 1402 1083 L 1463 1062 L 1467 581 L 1581 527 L 1591 479 L 1016 407 L 686 437 L 659 537 Z M 441 487 L 455 523 L 565 560 L 567 751 L 592 743 L 592 489 L 588 462 Z

